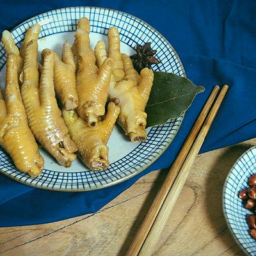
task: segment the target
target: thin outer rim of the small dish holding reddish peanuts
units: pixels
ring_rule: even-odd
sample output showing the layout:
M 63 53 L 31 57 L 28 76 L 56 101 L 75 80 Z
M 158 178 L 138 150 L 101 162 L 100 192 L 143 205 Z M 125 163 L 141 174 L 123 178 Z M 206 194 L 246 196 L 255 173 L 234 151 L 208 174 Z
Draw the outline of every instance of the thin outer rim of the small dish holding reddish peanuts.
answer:
M 225 179 L 225 182 L 224 182 L 224 185 L 223 185 L 223 192 L 222 192 L 222 211 L 223 211 L 223 214 L 224 214 L 224 217 L 225 217 L 225 221 L 227 223 L 228 230 L 229 230 L 230 234 L 232 234 L 232 237 L 234 238 L 236 243 L 239 245 L 239 247 L 248 256 L 250 256 L 251 254 L 246 250 L 246 248 L 244 248 L 243 244 L 239 241 L 239 238 L 236 236 L 236 234 L 234 233 L 234 231 L 233 231 L 233 229 L 231 227 L 227 211 L 225 210 L 226 209 L 226 206 L 225 206 L 225 195 L 227 194 L 227 192 L 226 192 L 226 190 L 227 190 L 227 183 L 228 183 L 228 180 L 230 179 L 230 175 L 232 174 L 232 172 L 234 170 L 234 167 L 239 163 L 239 161 L 241 161 L 241 159 L 244 156 L 246 156 L 249 152 L 252 152 L 253 149 L 256 149 L 256 146 L 248 148 L 248 150 L 246 150 L 241 156 L 239 156 L 237 158 L 236 162 L 232 165 L 232 167 L 230 168 L 230 171 L 228 172 L 228 175 L 227 175 L 227 177 Z M 238 195 L 237 195 L 237 198 L 238 198 Z

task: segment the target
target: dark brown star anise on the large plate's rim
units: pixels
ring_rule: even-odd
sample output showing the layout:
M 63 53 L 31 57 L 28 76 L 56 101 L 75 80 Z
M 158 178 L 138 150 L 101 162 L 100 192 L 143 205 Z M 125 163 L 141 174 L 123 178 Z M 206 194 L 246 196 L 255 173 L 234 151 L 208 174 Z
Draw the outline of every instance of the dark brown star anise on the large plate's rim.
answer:
M 161 63 L 161 61 L 157 60 L 157 58 L 154 57 L 154 54 L 156 54 L 157 51 L 153 50 L 150 45 L 150 42 L 143 46 L 137 44 L 137 53 L 133 54 L 130 57 L 133 62 L 134 68 L 139 72 L 139 74 L 143 68 L 151 68 L 151 65 Z

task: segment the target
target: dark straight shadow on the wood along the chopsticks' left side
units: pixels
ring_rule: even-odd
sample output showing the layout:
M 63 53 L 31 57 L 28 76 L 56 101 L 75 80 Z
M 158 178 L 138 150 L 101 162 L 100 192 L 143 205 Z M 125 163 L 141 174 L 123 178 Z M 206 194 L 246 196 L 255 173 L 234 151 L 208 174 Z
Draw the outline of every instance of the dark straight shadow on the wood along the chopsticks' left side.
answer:
M 134 238 L 136 232 L 138 231 L 138 228 L 140 227 L 143 219 L 145 218 L 145 215 L 147 214 L 150 205 L 152 204 L 154 198 L 156 197 L 156 194 L 159 188 L 161 187 L 161 184 L 163 184 L 163 181 L 168 173 L 168 170 L 168 168 L 161 170 L 161 172 L 159 172 L 159 174 L 157 175 L 157 179 L 154 181 L 154 184 L 152 185 L 152 188 L 150 189 L 145 202 L 141 206 L 140 213 L 135 218 L 136 221 L 134 221 L 131 230 L 127 234 L 127 238 L 125 239 L 124 244 L 122 244 L 122 247 L 118 252 L 118 256 L 124 256 L 127 250 L 129 249 L 132 243 L 132 239 Z

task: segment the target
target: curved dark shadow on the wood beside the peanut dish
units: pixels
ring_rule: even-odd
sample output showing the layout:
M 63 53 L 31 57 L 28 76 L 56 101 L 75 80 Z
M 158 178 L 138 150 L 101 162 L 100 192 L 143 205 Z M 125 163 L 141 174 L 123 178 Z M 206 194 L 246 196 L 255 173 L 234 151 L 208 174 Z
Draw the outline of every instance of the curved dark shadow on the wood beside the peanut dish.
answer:
M 227 151 L 216 160 L 210 172 L 211 175 L 207 177 L 206 184 L 208 188 L 205 191 L 205 205 L 212 229 L 215 229 L 216 233 L 220 233 L 220 230 L 222 230 L 219 235 L 225 232 L 230 234 L 222 209 L 222 193 L 225 179 L 237 159 L 250 147 L 252 147 L 252 144 L 243 143 L 227 148 Z M 231 234 L 230 237 L 232 237 Z M 233 237 L 232 241 L 234 241 Z M 223 243 L 225 243 L 224 240 Z M 230 252 L 230 255 L 233 255 L 232 253 L 236 255 L 237 246 L 232 246 L 228 252 Z

